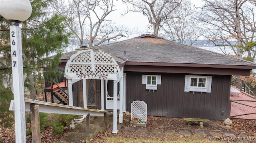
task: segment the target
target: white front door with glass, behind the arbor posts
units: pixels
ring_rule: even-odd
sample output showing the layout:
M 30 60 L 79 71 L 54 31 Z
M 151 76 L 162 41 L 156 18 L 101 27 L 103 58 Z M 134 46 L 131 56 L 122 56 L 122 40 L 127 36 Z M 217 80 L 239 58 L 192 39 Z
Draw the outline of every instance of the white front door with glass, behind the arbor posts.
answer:
M 106 109 L 113 109 L 114 108 L 114 82 L 113 80 L 106 80 L 107 84 L 106 84 Z M 120 94 L 119 94 L 119 82 L 118 82 L 118 87 L 117 87 L 117 109 L 119 109 L 119 100 L 120 100 Z

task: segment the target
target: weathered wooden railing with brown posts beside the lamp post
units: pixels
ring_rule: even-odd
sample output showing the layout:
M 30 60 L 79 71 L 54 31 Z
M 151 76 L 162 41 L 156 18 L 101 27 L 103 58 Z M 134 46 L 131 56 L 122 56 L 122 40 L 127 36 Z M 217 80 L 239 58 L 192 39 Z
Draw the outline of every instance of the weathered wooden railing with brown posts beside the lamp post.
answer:
M 10 103 L 9 110 L 14 111 L 14 100 Z M 104 130 L 107 129 L 107 112 L 101 110 L 93 110 L 87 108 L 80 108 L 75 106 L 68 106 L 32 99 L 25 99 L 25 111 L 31 114 L 31 130 L 33 143 L 40 143 L 40 120 L 39 112 L 53 113 L 53 114 L 69 114 L 69 115 L 87 115 L 86 116 L 86 143 L 90 143 L 90 115 L 104 116 Z M 24 129 L 26 130 L 26 129 Z

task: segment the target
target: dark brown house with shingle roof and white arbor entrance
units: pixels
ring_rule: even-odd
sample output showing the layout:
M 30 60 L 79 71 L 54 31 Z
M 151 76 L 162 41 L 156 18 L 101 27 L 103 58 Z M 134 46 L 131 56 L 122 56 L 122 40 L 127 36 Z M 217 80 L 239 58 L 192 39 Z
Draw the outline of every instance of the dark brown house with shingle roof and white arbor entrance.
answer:
M 256 68 L 250 61 L 148 34 L 84 50 L 62 56 L 69 105 L 125 112 L 142 100 L 148 116 L 226 119 L 231 76 Z

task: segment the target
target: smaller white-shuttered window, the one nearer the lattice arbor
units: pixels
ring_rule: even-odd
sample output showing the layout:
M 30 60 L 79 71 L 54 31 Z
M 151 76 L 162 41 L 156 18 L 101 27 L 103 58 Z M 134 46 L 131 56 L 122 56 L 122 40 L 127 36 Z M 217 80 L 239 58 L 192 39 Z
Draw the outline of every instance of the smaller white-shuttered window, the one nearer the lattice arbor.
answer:
M 142 75 L 142 84 L 146 84 L 146 89 L 157 90 L 157 85 L 161 84 L 160 75 Z

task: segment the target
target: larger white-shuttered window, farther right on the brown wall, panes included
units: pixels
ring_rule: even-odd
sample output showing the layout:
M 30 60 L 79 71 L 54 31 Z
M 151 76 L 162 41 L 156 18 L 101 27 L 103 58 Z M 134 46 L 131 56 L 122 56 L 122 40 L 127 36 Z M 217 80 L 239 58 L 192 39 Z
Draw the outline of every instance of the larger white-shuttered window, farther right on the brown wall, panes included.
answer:
M 185 76 L 185 92 L 211 92 L 212 76 Z

